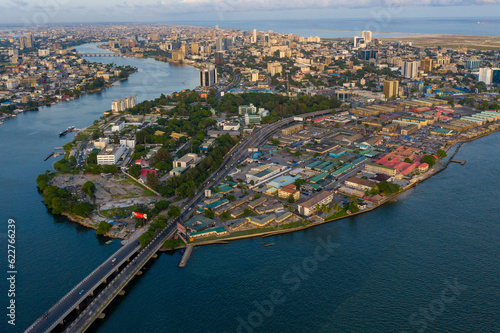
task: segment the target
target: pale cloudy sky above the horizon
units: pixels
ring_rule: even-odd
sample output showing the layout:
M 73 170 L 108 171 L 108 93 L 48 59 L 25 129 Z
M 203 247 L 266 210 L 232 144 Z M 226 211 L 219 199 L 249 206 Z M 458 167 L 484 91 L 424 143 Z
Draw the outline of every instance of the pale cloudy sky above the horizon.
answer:
M 0 0 L 0 23 L 24 25 L 363 18 L 377 13 L 479 20 L 500 13 L 500 0 Z

